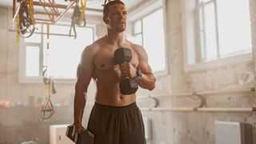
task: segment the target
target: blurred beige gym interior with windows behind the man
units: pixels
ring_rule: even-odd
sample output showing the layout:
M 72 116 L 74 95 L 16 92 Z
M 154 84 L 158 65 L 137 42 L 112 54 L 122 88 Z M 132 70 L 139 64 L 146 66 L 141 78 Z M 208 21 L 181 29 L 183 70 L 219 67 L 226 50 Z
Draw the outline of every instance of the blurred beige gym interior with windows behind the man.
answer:
M 19 25 L 22 0 L 0 1 L 0 144 L 68 141 L 76 68 L 106 34 L 104 2 L 87 0 L 86 26 L 70 34 L 76 1 L 34 0 L 28 27 Z M 123 2 L 126 38 L 145 48 L 157 78 L 137 93 L 147 143 L 255 144 L 256 1 Z M 91 81 L 84 126 L 95 91 Z

